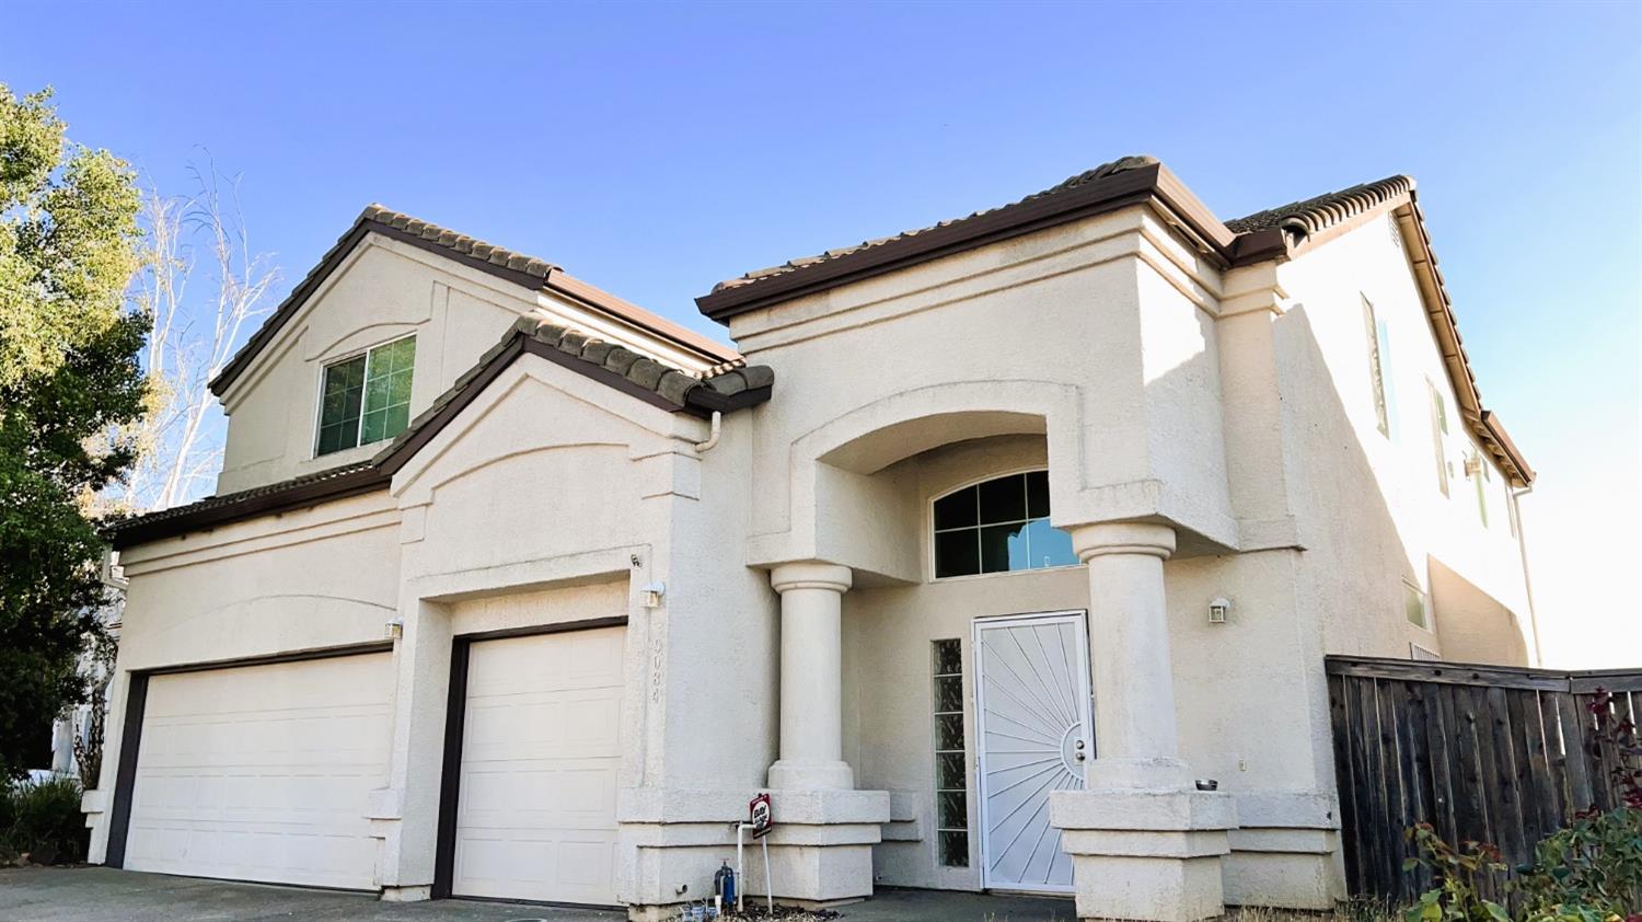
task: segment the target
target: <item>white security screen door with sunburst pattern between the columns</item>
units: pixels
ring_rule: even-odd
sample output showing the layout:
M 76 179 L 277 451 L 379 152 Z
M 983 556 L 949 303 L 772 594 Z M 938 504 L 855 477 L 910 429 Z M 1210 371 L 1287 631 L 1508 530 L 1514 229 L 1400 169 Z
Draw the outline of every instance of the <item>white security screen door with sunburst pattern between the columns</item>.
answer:
M 980 883 L 1069 892 L 1049 792 L 1082 791 L 1094 758 L 1085 615 L 977 620 L 974 659 Z

